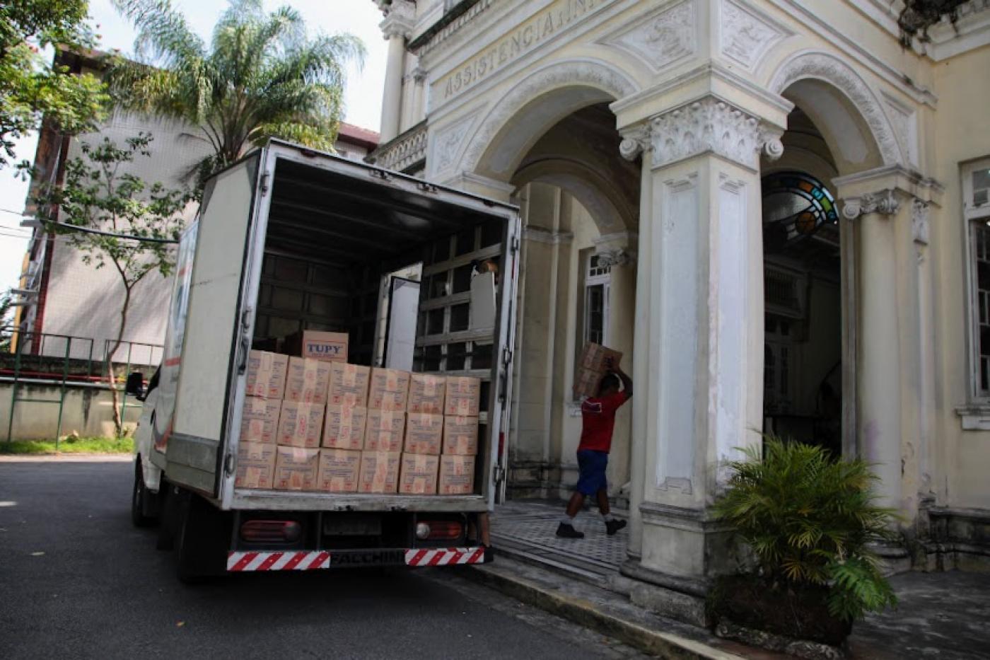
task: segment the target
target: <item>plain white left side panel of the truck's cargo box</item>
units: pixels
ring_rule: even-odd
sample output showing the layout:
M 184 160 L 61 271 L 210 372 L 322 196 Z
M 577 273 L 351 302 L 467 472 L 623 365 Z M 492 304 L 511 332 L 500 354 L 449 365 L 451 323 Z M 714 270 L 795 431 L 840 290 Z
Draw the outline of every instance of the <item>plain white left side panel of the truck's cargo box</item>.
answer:
M 189 294 L 175 433 L 219 444 L 254 191 L 251 160 L 220 174 L 202 213 Z M 253 166 L 252 166 L 253 165 Z M 190 341 L 195 338 L 195 341 Z M 169 462 L 172 457 L 169 455 Z

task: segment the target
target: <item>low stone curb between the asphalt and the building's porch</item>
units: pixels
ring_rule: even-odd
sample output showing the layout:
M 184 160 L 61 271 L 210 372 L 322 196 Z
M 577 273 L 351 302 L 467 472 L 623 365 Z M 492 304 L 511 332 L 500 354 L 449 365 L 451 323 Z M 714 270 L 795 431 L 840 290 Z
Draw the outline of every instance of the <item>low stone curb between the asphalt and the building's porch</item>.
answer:
M 505 566 L 510 563 L 513 562 L 499 557 L 495 564 L 470 567 L 463 571 L 462 575 L 527 605 L 540 607 L 579 625 L 619 639 L 646 653 L 663 658 L 690 660 L 743 659 L 743 656 L 728 653 L 704 642 L 651 629 L 642 622 L 608 611 L 606 607 L 589 599 L 554 590 L 523 575 L 514 574 L 511 567 Z M 500 564 L 504 568 L 498 568 Z M 505 570 L 506 568 L 510 570 Z

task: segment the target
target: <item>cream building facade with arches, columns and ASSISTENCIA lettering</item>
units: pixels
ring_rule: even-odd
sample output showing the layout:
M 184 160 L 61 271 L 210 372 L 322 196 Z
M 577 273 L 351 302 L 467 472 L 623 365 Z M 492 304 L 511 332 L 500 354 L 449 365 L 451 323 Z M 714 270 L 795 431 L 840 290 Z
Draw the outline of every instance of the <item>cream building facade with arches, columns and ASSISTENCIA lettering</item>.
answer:
M 764 431 L 876 464 L 895 568 L 986 565 L 990 3 L 907 49 L 886 0 L 378 4 L 369 160 L 524 214 L 510 496 L 574 483 L 601 341 L 637 385 L 623 571 L 682 617 Z

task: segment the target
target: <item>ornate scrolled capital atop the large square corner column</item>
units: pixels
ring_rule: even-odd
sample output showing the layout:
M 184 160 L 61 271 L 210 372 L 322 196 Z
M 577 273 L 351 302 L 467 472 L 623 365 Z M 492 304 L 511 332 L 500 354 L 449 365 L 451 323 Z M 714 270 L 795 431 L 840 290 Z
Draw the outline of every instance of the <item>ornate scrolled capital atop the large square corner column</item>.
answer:
M 647 149 L 652 166 L 663 167 L 711 152 L 749 169 L 759 154 L 770 160 L 784 153 L 784 129 L 718 96 L 708 95 L 650 117 L 620 132 L 620 152 L 629 160 Z

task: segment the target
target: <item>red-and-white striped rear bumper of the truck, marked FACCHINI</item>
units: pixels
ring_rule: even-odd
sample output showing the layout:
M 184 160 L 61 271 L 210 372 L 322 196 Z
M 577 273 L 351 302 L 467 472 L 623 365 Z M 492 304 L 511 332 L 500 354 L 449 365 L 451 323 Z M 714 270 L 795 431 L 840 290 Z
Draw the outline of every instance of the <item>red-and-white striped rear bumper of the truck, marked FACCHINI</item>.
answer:
M 410 548 L 374 550 L 231 551 L 227 571 L 315 571 L 359 566 L 458 566 L 491 561 L 491 549 Z

